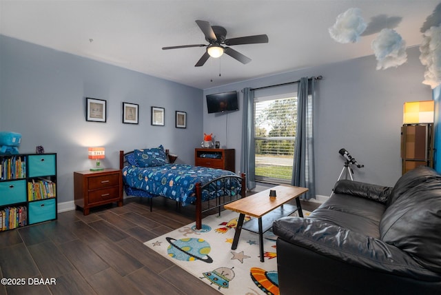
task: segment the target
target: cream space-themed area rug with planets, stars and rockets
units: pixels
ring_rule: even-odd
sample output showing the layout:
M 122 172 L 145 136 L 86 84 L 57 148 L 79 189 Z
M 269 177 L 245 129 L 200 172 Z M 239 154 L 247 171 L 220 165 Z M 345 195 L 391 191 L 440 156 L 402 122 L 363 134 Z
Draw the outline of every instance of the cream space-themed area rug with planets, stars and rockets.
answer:
M 309 212 L 303 210 L 303 214 Z M 201 230 L 191 223 L 144 245 L 222 294 L 279 294 L 276 236 L 271 230 L 263 236 L 264 263 L 260 262 L 258 234 L 242 230 L 237 249 L 232 250 L 238 216 L 225 210 L 220 216 L 203 218 Z

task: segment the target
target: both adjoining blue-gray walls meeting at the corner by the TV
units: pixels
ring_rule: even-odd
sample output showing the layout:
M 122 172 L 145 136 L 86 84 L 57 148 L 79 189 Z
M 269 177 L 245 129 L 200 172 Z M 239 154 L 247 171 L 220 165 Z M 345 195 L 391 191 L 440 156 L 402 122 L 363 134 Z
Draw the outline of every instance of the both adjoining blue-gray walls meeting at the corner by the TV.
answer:
M 342 170 L 340 148 L 365 165 L 355 170 L 356 180 L 393 185 L 401 174 L 402 104 L 432 98 L 421 83 L 418 48 L 407 54 L 407 63 L 388 70 L 375 70 L 370 56 L 198 90 L 0 35 L 0 130 L 22 134 L 23 153 L 36 145 L 58 153 L 59 202 L 67 202 L 73 200 L 72 172 L 93 164 L 88 146 L 105 146 L 105 167 L 118 166 L 119 150 L 159 144 L 178 154 L 178 162 L 194 163 L 203 132 L 213 133 L 223 148 L 236 149 L 238 172 L 240 90 L 322 75 L 315 112 L 317 194 L 331 193 Z M 240 110 L 207 114 L 205 95 L 229 90 L 239 91 Z M 107 100 L 107 123 L 85 121 L 85 96 Z M 121 123 L 123 101 L 139 104 L 139 125 Z M 150 125 L 151 106 L 165 108 L 165 127 Z M 174 128 L 175 110 L 187 112 L 187 129 Z

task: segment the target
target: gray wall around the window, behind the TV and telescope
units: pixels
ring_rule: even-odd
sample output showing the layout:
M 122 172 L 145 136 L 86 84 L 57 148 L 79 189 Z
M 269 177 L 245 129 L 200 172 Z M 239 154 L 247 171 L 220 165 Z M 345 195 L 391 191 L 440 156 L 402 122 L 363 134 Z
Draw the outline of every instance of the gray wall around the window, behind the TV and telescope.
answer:
M 316 194 L 331 194 L 344 162 L 338 154 L 340 148 L 365 165 L 354 170 L 356 181 L 393 185 L 401 175 L 402 105 L 432 99 L 431 88 L 421 83 L 424 67 L 419 49 L 408 48 L 407 54 L 407 63 L 387 70 L 376 70 L 376 59 L 369 56 L 206 89 L 204 95 L 238 90 L 240 111 L 207 114 L 204 101 L 204 132 L 213 132 L 221 145 L 236 149 L 238 170 L 243 105 L 240 90 L 322 75 L 314 113 Z

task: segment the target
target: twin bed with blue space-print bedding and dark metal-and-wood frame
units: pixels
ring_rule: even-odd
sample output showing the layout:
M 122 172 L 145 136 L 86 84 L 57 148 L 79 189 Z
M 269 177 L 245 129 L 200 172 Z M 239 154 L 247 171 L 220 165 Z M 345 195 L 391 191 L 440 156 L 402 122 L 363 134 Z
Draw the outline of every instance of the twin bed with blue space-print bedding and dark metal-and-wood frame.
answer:
M 220 212 L 223 205 L 245 196 L 245 174 L 237 176 L 227 170 L 170 163 L 162 145 L 126 153 L 121 150 L 119 157 L 127 196 L 149 198 L 150 206 L 156 196 L 183 206 L 196 205 L 198 230 L 203 212 Z

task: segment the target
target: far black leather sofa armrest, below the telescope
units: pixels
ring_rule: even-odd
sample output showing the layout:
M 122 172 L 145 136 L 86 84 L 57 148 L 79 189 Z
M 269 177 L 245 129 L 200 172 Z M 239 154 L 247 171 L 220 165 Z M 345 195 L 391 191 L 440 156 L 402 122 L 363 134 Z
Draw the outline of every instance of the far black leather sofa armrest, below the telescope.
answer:
M 387 203 L 392 187 L 382 185 L 374 185 L 371 183 L 362 183 L 359 181 L 349 181 L 347 179 L 340 180 L 334 186 L 335 194 L 349 194 L 359 196 L 360 198 Z

